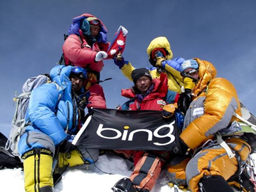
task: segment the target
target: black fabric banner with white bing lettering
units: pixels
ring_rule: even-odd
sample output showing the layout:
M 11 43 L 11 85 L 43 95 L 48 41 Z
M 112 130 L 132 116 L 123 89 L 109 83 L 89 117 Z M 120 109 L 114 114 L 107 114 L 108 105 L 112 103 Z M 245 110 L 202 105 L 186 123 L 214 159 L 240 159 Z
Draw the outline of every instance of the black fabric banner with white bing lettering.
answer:
M 161 111 L 92 109 L 74 145 L 88 148 L 179 151 L 179 128 L 175 117 Z

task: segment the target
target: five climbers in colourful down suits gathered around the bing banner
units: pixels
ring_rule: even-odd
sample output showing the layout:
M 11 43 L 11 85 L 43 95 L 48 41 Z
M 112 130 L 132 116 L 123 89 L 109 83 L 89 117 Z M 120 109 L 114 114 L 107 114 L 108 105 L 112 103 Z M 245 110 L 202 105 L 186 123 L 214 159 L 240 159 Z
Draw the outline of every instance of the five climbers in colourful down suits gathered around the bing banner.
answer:
M 127 29 L 120 28 L 127 35 Z M 85 106 L 106 108 L 98 82 L 102 60 L 108 57 L 107 33 L 97 17 L 88 13 L 75 17 L 63 44 L 65 65 L 52 68 L 54 83 L 31 93 L 26 132 L 19 141 L 26 191 L 52 191 L 54 168 L 98 160 L 99 150 L 71 142 L 85 121 Z M 172 59 L 170 43 L 163 36 L 150 42 L 147 53 L 151 68 L 134 68 L 123 57 L 113 58 L 134 83 L 122 90 L 122 96 L 130 100 L 120 109 L 159 110 L 164 118 L 180 113 L 184 156 L 170 157 L 168 151 L 115 150 L 133 159 L 134 171 L 130 178 L 119 180 L 113 191 L 152 190 L 169 161 L 167 175 L 173 184 L 188 186 L 191 191 L 232 191 L 227 180 L 239 172 L 251 151 L 239 136 L 221 138 L 225 147 L 218 140 L 221 130 L 239 122 L 233 116 L 241 115 L 236 89 L 227 79 L 216 78 L 216 68 L 208 61 Z

